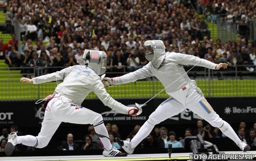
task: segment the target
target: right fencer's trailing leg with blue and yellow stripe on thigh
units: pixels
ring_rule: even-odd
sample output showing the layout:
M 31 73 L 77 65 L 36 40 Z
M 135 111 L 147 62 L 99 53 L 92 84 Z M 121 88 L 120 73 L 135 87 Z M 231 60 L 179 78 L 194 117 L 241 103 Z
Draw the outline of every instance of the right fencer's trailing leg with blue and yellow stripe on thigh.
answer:
M 191 110 L 211 126 L 219 127 L 225 136 L 233 140 L 236 144 L 240 139 L 233 128 L 211 108 L 207 100 L 198 92 L 197 87 L 189 89 L 186 101 L 187 109 Z

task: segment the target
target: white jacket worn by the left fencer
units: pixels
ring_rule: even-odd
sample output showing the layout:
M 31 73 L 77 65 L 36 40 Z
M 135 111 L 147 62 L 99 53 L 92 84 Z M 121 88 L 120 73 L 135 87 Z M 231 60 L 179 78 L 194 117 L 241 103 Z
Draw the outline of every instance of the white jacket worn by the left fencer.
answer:
M 104 105 L 126 114 L 128 107 L 113 99 L 105 90 L 100 76 L 84 65 L 75 65 L 60 71 L 32 78 L 33 84 L 63 80 L 55 92 L 68 98 L 76 105 L 81 105 L 90 92 L 94 92 Z

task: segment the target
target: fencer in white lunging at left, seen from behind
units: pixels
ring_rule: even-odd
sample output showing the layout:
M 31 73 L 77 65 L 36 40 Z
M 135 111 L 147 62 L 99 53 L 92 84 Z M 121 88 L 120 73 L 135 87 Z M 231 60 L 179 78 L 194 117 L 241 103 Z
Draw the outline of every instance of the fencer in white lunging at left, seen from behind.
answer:
M 16 144 L 23 144 L 35 148 L 44 148 L 50 142 L 61 122 L 94 125 L 97 136 L 104 145 L 104 156 L 127 156 L 113 148 L 108 131 L 100 114 L 81 106 L 82 101 L 90 92 L 94 92 L 104 105 L 127 115 L 136 115 L 138 108 L 127 107 L 114 100 L 105 90 L 99 75 L 106 70 L 106 53 L 96 50 L 84 50 L 83 59 L 86 65 L 75 65 L 60 71 L 29 78 L 21 78 L 21 82 L 40 84 L 63 80 L 54 94 L 47 97 L 44 120 L 38 136 L 17 136 L 15 132 L 9 135 L 5 152 L 11 155 Z

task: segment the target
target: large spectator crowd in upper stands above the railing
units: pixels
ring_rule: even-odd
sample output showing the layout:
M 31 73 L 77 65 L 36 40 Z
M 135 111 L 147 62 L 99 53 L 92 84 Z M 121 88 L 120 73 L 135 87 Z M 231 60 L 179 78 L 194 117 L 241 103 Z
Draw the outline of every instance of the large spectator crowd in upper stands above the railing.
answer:
M 253 1 L 245 5 L 218 0 L 198 6 L 210 10 L 211 16 L 225 13 L 250 19 L 255 16 L 253 5 Z M 0 39 L 0 58 L 6 58 L 10 67 L 68 67 L 83 63 L 84 49 L 94 49 L 107 53 L 107 72 L 134 71 L 148 63 L 143 43 L 161 39 L 167 51 L 225 62 L 230 69 L 256 65 L 255 43 L 242 36 L 237 41 L 214 41 L 205 21 L 208 17 L 200 18 L 189 5 L 175 0 L 11 0 L 7 21 L 20 22 L 22 41 L 18 44 L 16 35 L 8 44 Z M 254 71 L 253 66 L 246 69 Z

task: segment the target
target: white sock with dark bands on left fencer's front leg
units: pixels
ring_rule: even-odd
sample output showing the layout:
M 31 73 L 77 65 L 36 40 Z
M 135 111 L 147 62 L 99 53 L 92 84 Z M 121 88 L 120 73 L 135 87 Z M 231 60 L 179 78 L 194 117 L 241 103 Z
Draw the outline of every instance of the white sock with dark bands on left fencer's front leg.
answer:
M 103 143 L 104 148 L 108 151 L 112 149 L 112 144 L 110 143 L 109 133 L 106 130 L 104 123 L 94 126 L 95 132 L 99 137 L 100 141 Z

